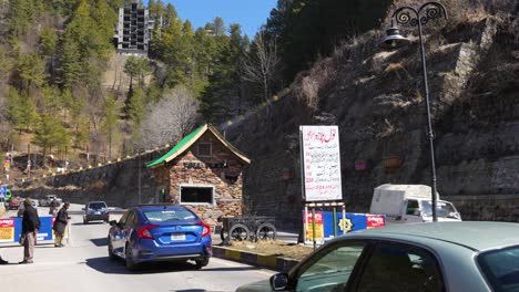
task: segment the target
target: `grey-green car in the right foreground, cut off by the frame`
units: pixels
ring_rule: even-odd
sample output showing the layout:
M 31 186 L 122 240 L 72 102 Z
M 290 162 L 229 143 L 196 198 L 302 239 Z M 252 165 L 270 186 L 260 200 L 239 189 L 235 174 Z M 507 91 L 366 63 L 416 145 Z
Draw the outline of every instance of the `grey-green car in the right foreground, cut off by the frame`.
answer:
M 257 291 L 516 291 L 519 225 L 393 225 L 328 241 Z

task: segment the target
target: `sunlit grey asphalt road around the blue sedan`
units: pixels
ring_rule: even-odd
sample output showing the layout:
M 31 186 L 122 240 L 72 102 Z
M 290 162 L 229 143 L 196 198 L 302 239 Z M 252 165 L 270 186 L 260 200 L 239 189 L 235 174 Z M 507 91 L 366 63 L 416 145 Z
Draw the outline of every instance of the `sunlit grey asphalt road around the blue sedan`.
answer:
M 224 292 L 238 285 L 267 279 L 274 271 L 212 258 L 197 271 L 194 263 L 161 263 L 129 272 L 123 261 L 111 261 L 106 253 L 109 225 L 82 223 L 82 206 L 72 205 L 72 240 L 65 248 L 52 244 L 34 249 L 33 264 L 18 264 L 21 247 L 2 247 L 0 254 L 10 264 L 0 265 L 2 292 L 18 291 L 179 291 Z M 48 208 L 39 208 L 47 213 Z M 11 211 L 12 213 L 14 211 Z M 116 219 L 114 215 L 111 219 Z

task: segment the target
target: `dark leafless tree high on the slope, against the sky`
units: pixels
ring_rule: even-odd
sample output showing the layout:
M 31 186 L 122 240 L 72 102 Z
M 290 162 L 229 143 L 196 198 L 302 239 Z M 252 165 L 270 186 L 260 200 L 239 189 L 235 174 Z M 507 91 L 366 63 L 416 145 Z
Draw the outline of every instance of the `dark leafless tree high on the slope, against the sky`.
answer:
M 251 52 L 242 60 L 242 79 L 261 84 L 263 98 L 268 102 L 271 82 L 279 64 L 275 40 L 267 38 L 265 30 L 261 30 L 252 44 Z

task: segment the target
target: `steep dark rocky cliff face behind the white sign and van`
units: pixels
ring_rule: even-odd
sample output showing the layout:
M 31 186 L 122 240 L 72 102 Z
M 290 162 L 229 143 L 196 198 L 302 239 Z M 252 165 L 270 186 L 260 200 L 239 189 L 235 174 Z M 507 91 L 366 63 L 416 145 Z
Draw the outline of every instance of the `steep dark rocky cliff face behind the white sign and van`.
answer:
M 515 28 L 487 18 L 426 38 L 438 191 L 451 196 L 465 219 L 488 219 L 478 196 L 519 192 Z M 301 222 L 299 125 L 339 126 L 348 211 L 368 211 L 381 184 L 430 185 L 418 42 L 381 52 L 380 36 L 362 35 L 299 74 L 266 107 L 221 127 L 253 160 L 244 174 L 251 213 L 275 215 L 284 227 Z

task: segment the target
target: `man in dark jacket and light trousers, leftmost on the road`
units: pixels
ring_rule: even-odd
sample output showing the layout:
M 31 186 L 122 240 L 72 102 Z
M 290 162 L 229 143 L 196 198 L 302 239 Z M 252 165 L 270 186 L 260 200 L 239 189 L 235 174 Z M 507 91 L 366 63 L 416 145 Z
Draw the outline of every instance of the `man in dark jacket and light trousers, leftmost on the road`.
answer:
M 26 240 L 23 241 L 23 261 L 19 263 L 33 263 L 34 244 L 41 222 L 38 210 L 32 207 L 31 199 L 27 198 L 23 201 L 23 207 L 26 207 L 26 210 L 23 211 L 21 236 Z

